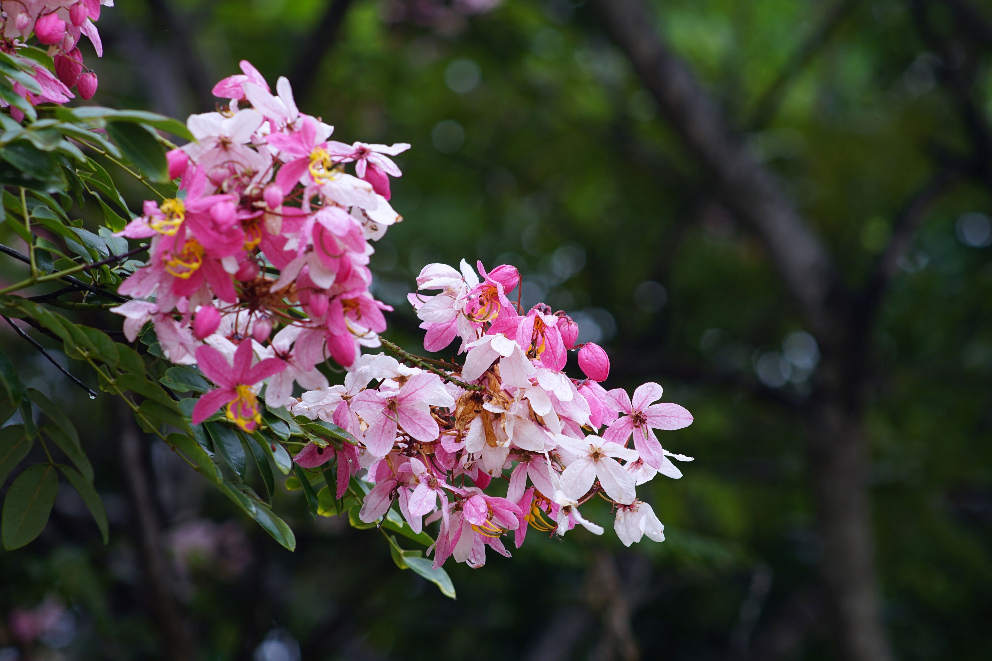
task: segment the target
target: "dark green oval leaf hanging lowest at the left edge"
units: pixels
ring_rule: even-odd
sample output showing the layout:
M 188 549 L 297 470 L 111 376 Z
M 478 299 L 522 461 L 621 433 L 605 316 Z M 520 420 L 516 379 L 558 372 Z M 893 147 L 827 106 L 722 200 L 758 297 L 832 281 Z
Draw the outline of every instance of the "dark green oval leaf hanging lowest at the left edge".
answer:
M 42 534 L 58 495 L 52 464 L 35 464 L 17 476 L 3 502 L 3 547 L 13 551 Z

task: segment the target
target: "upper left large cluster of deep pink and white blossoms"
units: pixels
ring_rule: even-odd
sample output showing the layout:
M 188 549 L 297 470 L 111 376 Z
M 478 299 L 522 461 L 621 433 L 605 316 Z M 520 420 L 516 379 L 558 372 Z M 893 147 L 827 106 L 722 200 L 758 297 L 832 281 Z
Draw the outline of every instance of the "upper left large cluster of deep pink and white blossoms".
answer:
M 392 308 L 369 293 L 369 242 L 401 220 L 389 157 L 410 146 L 329 140 L 333 127 L 297 109 L 285 77 L 273 94 L 241 68 L 213 88 L 228 107 L 190 116 L 196 142 L 168 154 L 180 196 L 146 201 L 120 232 L 151 246 L 118 289 L 134 300 L 115 311 L 130 340 L 151 319 L 169 360 L 222 386 L 199 400 L 194 423 L 226 406 L 252 431 L 264 379 L 267 402 L 282 406 L 295 383 L 327 385 L 315 366 L 328 356 L 347 367 L 360 345 L 379 346 Z M 253 353 L 264 358 L 254 367 Z

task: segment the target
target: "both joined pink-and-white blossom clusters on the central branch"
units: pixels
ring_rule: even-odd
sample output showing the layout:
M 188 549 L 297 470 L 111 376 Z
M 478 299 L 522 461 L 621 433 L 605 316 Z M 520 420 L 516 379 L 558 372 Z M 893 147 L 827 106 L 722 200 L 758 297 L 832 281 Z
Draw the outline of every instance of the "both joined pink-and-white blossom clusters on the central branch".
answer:
M 687 426 L 689 412 L 655 403 L 658 384 L 633 397 L 601 386 L 606 352 L 578 344 L 564 312 L 512 301 L 512 266 L 432 264 L 417 278 L 409 301 L 425 348 L 457 340 L 463 365 L 383 342 L 391 308 L 369 292 L 370 242 L 400 220 L 389 199 L 401 172 L 390 157 L 410 146 L 332 141 L 332 127 L 297 109 L 286 78 L 273 94 L 251 64 L 241 68 L 213 89 L 227 107 L 189 117 L 196 142 L 168 154 L 180 195 L 146 201 L 120 232 L 151 239 L 147 264 L 118 288 L 133 297 L 115 308 L 126 336 L 134 341 L 151 320 L 165 357 L 195 364 L 217 386 L 192 422 L 223 408 L 254 431 L 264 384 L 270 408 L 336 425 L 338 442 L 310 441 L 297 465 L 333 470 L 334 496 L 361 499 L 364 522 L 394 502 L 417 533 L 439 521 L 435 567 L 449 557 L 479 567 L 486 546 L 509 555 L 503 536 L 513 531 L 520 547 L 528 527 L 600 534 L 579 511 L 595 496 L 614 507 L 623 543 L 664 539 L 636 487 L 658 473 L 682 477 L 671 458 L 691 458 L 665 450 L 656 430 Z M 402 362 L 361 354 L 383 344 Z M 570 351 L 584 379 L 565 374 Z M 317 369 L 328 359 L 346 369 L 343 385 L 328 386 Z

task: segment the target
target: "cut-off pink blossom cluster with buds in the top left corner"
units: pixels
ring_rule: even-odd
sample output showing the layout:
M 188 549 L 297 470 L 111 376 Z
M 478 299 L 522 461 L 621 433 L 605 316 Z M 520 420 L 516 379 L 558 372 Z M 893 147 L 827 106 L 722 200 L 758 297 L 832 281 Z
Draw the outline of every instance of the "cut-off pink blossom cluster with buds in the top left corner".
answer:
M 33 68 L 31 74 L 41 87 L 40 92 L 32 92 L 24 83 L 9 77 L 14 92 L 27 99 L 32 105 L 39 103 L 65 103 L 72 98 L 69 91 L 76 87 L 79 96 L 91 98 L 96 93 L 96 73 L 89 70 L 82 61 L 77 48 L 79 39 L 85 35 L 93 45 L 97 57 L 103 56 L 100 35 L 93 25 L 100 18 L 100 7 L 113 7 L 114 0 L 3 0 L 2 8 L 3 40 L 0 51 Z M 34 33 L 39 44 L 48 48 L 48 54 L 55 58 L 56 75 L 41 63 L 17 52 L 23 49 L 27 39 Z M 0 107 L 10 105 L 0 99 Z M 24 113 L 18 108 L 11 109 L 11 115 L 21 121 Z

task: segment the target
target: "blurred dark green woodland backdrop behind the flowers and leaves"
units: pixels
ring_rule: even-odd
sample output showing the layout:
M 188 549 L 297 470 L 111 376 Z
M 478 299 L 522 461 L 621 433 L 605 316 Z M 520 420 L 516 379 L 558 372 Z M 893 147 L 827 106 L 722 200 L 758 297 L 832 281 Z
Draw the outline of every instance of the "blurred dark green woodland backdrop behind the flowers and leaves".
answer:
M 0 552 L 0 661 L 992 658 L 992 3 L 117 5 L 93 103 L 185 119 L 247 58 L 335 139 L 413 145 L 372 258 L 386 337 L 418 349 L 424 265 L 512 264 L 606 386 L 693 413 L 662 440 L 696 459 L 642 488 L 664 543 L 532 531 L 449 563 L 452 602 L 280 490 L 285 551 L 3 327 L 111 542 L 63 490 Z

